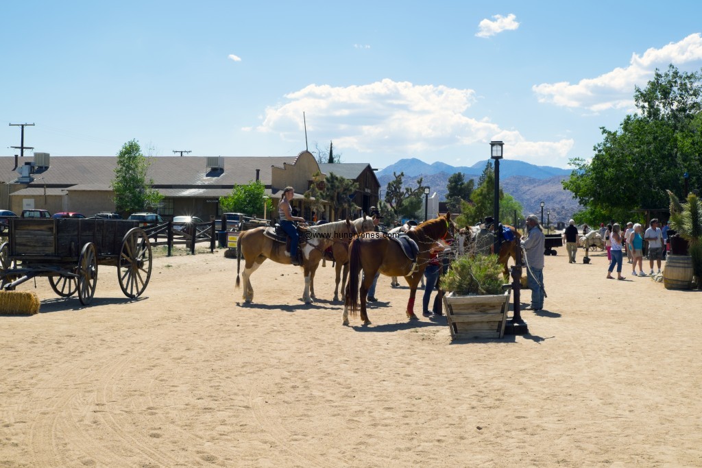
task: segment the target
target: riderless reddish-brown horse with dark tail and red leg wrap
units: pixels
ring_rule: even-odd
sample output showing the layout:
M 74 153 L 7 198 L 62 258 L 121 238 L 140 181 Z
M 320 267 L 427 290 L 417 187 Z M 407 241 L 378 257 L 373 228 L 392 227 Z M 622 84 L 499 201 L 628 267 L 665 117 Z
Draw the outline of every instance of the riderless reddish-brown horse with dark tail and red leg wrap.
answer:
M 359 283 L 361 319 L 364 325 L 371 323 L 366 314 L 366 296 L 378 271 L 386 276 L 404 276 L 410 288 L 406 314 L 410 319 L 416 320 L 417 316 L 413 310 L 414 297 L 419 279 L 423 276 L 424 268 L 431 258 L 430 249 L 439 239 L 452 238 L 455 231 L 456 225 L 451 221 L 451 213 L 446 213 L 446 216 L 425 221 L 416 229 L 407 232 L 407 236 L 419 247 L 416 265 L 404 255 L 402 247 L 388 236 L 374 236 L 373 233 L 366 233 L 354 239 L 349 248 L 350 276 L 346 285 L 343 324 L 349 323 L 349 309 L 352 316 L 355 316 L 359 309 Z M 364 281 L 359 281 L 362 270 Z

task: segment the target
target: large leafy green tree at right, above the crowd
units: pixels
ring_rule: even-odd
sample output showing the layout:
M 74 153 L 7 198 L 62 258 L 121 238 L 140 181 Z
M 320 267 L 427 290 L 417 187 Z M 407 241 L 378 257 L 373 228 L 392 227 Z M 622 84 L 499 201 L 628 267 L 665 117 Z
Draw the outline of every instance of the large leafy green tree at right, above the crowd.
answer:
M 664 208 L 665 190 L 682 194 L 686 172 L 690 187 L 702 183 L 702 74 L 656 69 L 634 100 L 638 112 L 616 131 L 601 128 L 592 161 L 571 159 L 575 170 L 562 184 L 585 207 L 581 219 L 624 220 L 637 208 Z

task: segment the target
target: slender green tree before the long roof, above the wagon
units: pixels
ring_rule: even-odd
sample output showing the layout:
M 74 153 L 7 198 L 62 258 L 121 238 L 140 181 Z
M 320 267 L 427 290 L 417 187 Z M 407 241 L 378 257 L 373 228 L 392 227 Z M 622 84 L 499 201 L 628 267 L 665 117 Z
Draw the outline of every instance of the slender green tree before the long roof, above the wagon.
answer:
M 117 153 L 117 167 L 110 186 L 114 190 L 114 207 L 119 213 L 156 210 L 164 196 L 147 180 L 150 161 L 141 152 L 137 140 L 122 145 Z

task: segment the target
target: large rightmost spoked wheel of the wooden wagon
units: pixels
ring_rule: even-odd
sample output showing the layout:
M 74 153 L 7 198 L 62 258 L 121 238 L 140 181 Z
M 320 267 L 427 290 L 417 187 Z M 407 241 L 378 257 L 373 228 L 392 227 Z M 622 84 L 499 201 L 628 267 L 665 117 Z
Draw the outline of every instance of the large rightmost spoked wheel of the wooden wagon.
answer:
M 117 275 L 119 287 L 126 297 L 141 295 L 151 277 L 151 244 L 143 229 L 135 227 L 124 235 L 119 249 Z

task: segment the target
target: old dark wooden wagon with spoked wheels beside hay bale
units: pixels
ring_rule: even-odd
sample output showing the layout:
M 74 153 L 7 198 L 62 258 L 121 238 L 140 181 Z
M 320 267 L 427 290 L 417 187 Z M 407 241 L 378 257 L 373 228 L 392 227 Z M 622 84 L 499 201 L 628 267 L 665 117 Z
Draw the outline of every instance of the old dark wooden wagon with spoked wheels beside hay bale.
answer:
M 13 290 L 36 276 L 47 276 L 61 297 L 78 293 L 90 304 L 98 266 L 117 267 L 126 297 L 138 297 L 149 283 L 152 252 L 137 221 L 100 219 L 10 220 L 8 242 L 0 246 L 0 289 Z

